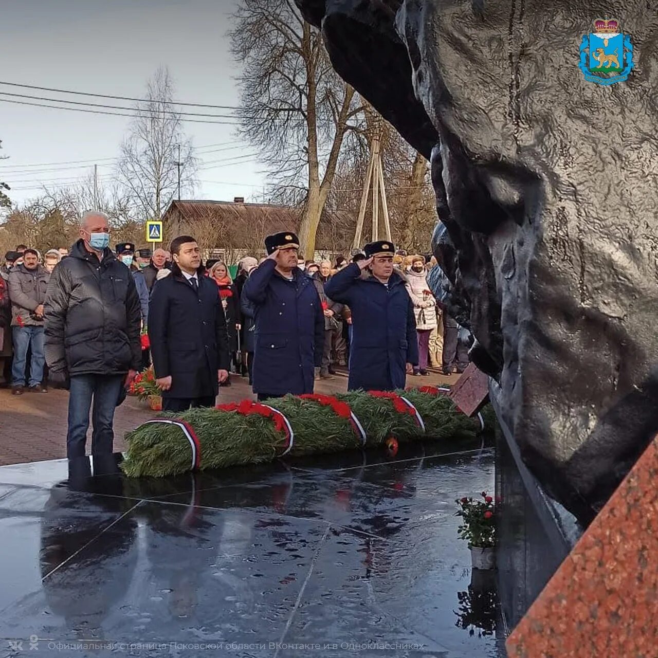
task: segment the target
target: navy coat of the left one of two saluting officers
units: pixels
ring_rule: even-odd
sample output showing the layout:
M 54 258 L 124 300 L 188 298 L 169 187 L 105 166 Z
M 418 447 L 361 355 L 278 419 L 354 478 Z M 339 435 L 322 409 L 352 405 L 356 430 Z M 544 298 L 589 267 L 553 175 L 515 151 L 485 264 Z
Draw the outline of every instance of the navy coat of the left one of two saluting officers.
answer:
M 324 315 L 313 281 L 293 269 L 288 281 L 266 260 L 249 274 L 243 296 L 256 309 L 255 393 L 313 393 L 313 369 L 322 363 Z

